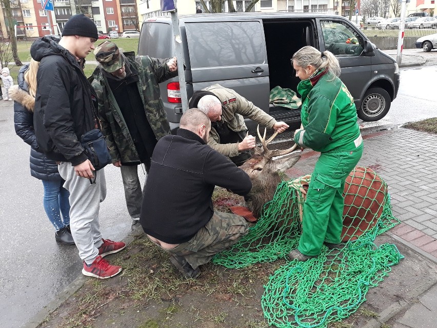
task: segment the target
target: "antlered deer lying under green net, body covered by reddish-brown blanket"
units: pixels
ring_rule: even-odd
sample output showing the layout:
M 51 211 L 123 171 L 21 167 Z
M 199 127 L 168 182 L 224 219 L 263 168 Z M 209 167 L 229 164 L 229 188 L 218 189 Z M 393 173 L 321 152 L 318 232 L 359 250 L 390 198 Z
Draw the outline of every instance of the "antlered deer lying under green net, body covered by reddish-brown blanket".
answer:
M 252 180 L 252 190 L 245 200 L 255 218 L 261 217 L 264 204 L 273 199 L 277 185 L 283 180 L 285 170 L 291 168 L 301 158 L 300 153 L 294 152 L 297 144 L 285 150 L 268 149 L 267 145 L 277 136 L 277 133 L 275 131 L 266 140 L 266 129 L 264 136 L 261 137 L 258 126 L 257 134 L 262 148 L 255 147 L 252 157 L 240 166 Z M 288 185 L 296 190 L 297 197 L 303 197 L 305 200 L 310 179 L 311 175 L 307 175 L 289 181 Z M 376 224 L 376 220 L 381 217 L 387 192 L 387 184 L 372 169 L 357 166 L 349 173 L 344 189 L 343 241 L 356 239 L 357 236 L 351 234 L 357 228 L 367 230 Z M 302 203 L 299 213 L 302 221 Z

